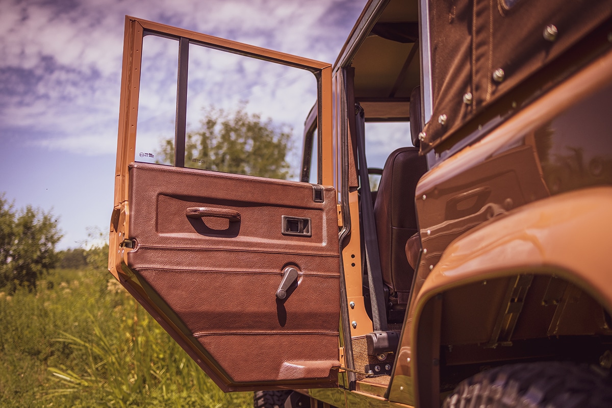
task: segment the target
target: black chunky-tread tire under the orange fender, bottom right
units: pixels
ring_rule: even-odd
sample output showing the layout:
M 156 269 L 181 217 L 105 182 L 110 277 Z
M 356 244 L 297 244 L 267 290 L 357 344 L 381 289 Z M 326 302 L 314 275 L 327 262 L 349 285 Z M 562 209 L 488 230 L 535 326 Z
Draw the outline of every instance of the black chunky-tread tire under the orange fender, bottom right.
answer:
M 610 408 L 612 380 L 599 367 L 561 362 L 521 363 L 460 382 L 444 408 Z

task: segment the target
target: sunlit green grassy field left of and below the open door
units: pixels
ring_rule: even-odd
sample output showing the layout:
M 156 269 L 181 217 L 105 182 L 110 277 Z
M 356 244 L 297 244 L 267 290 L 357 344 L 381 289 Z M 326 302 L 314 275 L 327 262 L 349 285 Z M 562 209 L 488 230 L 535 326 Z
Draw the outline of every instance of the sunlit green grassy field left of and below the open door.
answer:
M 222 393 L 103 270 L 0 289 L 2 407 L 252 407 Z

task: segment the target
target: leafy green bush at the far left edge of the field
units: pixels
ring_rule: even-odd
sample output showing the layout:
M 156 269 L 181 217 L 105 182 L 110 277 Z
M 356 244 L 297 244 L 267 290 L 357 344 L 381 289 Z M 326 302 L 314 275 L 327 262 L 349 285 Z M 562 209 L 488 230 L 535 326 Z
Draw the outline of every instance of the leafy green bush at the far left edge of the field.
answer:
M 51 212 L 26 206 L 20 212 L 0 196 L 0 287 L 35 289 L 36 280 L 55 267 L 55 245 L 61 239 Z

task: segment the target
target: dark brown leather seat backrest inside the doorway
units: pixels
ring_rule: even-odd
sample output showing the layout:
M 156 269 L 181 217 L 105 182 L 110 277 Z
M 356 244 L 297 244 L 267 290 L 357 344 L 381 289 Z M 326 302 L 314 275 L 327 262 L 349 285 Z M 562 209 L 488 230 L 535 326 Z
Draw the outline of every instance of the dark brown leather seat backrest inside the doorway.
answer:
M 384 165 L 374 205 L 383 281 L 400 303 L 408 302 L 414 270 L 406 258 L 406 242 L 417 232 L 414 194 L 427 171 L 417 147 L 401 147 Z

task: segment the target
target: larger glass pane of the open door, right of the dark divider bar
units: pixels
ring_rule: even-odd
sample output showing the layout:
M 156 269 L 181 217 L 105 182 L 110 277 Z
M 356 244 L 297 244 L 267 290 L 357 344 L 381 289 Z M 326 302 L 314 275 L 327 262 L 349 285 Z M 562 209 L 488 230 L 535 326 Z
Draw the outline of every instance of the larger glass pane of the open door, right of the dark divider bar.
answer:
M 299 180 L 315 76 L 192 44 L 185 166 Z

